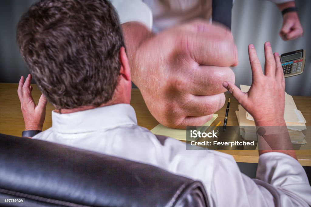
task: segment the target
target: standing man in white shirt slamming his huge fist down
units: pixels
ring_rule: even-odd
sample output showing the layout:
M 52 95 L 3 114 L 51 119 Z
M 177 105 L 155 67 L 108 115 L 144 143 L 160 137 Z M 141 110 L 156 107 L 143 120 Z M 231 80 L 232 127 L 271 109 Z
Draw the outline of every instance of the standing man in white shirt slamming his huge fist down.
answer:
M 210 120 L 224 105 L 222 83 L 234 83 L 230 67 L 238 64 L 230 30 L 209 23 L 212 0 L 110 1 L 122 24 L 132 81 L 151 114 L 174 128 Z M 301 36 L 295 2 L 271 1 L 283 13 L 282 39 Z M 214 3 L 219 2 L 232 5 L 230 0 Z

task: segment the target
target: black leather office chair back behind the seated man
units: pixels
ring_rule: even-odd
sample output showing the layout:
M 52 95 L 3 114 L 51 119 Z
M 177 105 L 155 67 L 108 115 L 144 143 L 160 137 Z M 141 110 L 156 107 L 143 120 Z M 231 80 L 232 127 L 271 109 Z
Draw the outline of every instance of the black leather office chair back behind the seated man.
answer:
M 207 206 L 201 182 L 151 165 L 0 134 L 0 206 Z

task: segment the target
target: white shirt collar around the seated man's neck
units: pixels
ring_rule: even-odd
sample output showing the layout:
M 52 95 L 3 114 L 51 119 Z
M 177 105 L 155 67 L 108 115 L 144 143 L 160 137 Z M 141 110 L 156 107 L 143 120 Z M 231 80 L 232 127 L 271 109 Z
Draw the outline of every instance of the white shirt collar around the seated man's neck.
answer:
M 52 129 L 58 133 L 82 133 L 137 125 L 134 108 L 130 104 L 114 104 L 74 113 L 52 111 Z

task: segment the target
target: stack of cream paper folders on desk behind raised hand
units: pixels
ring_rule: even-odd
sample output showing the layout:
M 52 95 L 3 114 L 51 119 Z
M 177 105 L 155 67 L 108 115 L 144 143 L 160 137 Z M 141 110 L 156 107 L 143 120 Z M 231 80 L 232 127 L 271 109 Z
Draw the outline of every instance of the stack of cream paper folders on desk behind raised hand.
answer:
M 240 85 L 241 90 L 246 93 L 250 86 Z M 250 115 L 241 105 L 239 111 L 235 111 L 240 126 L 240 134 L 245 140 L 257 140 L 257 133 L 255 122 L 252 115 Z M 306 128 L 306 120 L 302 113 L 297 109 L 294 99 L 291 95 L 285 92 L 285 111 L 284 119 L 290 135 L 290 140 L 293 144 L 305 144 L 303 130 Z

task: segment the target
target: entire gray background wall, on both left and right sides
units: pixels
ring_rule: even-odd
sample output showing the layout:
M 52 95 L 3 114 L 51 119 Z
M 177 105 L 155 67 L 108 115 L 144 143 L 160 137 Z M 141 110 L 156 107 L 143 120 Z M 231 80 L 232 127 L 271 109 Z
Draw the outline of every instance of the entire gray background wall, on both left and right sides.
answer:
M 0 1 L 0 82 L 17 83 L 20 76 L 29 73 L 17 49 L 15 32 L 21 14 L 35 1 Z M 278 35 L 282 25 L 281 12 L 273 3 L 261 0 L 235 0 L 232 11 L 232 33 L 239 52 L 239 65 L 233 69 L 236 85 L 250 85 L 252 81 L 248 62 L 248 44 L 255 45 L 263 65 L 263 44 L 265 41 L 270 41 L 274 52 L 306 50 L 304 73 L 286 78 L 285 90 L 291 95 L 311 96 L 311 1 L 296 0 L 296 5 L 304 28 L 304 36 L 285 42 Z

